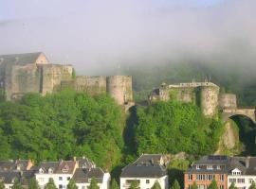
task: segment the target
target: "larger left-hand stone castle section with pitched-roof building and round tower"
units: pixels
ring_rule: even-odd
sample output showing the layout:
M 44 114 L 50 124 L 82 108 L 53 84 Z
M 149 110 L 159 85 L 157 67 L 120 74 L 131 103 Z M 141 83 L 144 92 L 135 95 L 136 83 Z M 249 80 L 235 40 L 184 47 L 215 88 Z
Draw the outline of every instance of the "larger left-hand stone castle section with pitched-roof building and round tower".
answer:
M 52 93 L 69 86 L 88 94 L 107 93 L 119 105 L 133 102 L 132 77 L 76 77 L 70 64 L 53 64 L 42 52 L 0 55 L 0 89 L 8 100 L 29 92 Z

